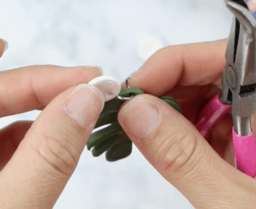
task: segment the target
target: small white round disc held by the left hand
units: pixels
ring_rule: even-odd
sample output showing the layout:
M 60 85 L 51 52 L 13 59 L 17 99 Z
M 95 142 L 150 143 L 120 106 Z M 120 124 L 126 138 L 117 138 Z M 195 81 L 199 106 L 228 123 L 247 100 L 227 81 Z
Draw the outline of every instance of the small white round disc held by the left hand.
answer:
M 99 76 L 92 79 L 88 84 L 94 85 L 102 91 L 102 94 L 105 97 L 105 102 L 118 96 L 121 90 L 119 80 L 113 76 Z

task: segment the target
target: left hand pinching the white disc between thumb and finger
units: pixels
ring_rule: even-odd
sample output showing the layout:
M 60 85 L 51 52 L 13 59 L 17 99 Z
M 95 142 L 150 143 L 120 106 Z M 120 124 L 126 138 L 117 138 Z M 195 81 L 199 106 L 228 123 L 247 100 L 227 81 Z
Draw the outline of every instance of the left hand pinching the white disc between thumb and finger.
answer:
M 0 56 L 3 50 L 0 40 Z M 102 111 L 102 93 L 87 84 L 98 76 L 96 67 L 31 66 L 0 73 L 0 117 L 43 110 L 33 123 L 20 121 L 0 131 L 1 209 L 54 206 Z

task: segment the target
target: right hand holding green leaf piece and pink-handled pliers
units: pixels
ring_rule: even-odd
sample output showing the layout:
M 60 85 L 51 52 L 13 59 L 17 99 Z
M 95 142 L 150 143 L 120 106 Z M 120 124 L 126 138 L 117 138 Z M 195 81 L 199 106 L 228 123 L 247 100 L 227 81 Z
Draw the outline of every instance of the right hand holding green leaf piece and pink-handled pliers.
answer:
M 221 92 L 226 46 L 224 39 L 160 49 L 129 81 L 153 96 L 136 96 L 119 110 L 126 135 L 195 208 L 256 206 L 255 179 L 235 168 L 231 115 L 215 126 L 210 144 L 195 128 L 202 107 Z M 163 95 L 177 99 L 183 114 L 157 98 Z

